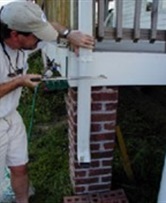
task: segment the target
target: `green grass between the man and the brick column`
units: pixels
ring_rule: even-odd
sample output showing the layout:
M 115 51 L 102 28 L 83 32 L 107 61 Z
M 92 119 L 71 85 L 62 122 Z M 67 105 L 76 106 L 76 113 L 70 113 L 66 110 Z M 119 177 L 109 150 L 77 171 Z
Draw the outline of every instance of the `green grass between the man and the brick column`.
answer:
M 42 67 L 40 53 L 29 61 L 30 72 L 40 73 Z M 69 180 L 68 134 L 64 97 L 66 90 L 45 91 L 44 84 L 35 96 L 25 88 L 19 111 L 24 118 L 27 131 L 33 126 L 29 139 L 29 173 L 35 187 L 31 203 L 62 203 L 64 196 L 72 193 Z

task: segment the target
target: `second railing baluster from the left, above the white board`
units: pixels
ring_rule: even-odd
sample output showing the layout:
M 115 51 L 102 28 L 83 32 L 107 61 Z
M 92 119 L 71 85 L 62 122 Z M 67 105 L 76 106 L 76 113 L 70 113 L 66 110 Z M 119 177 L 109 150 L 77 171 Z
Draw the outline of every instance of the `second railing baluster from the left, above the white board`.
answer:
M 122 0 L 116 0 L 116 41 L 122 39 L 122 9 L 123 2 Z

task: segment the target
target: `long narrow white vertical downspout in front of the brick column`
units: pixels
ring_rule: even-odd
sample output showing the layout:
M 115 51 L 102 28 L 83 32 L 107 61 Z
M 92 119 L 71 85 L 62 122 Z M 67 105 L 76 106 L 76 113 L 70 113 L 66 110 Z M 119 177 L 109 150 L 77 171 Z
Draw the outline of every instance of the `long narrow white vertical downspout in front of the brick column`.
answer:
M 93 1 L 79 0 L 78 29 L 92 35 L 93 30 Z M 92 66 L 92 51 L 80 49 L 78 58 L 78 77 L 90 76 Z M 91 125 L 91 81 L 78 81 L 77 109 L 77 158 L 79 163 L 89 163 L 90 156 L 90 125 Z

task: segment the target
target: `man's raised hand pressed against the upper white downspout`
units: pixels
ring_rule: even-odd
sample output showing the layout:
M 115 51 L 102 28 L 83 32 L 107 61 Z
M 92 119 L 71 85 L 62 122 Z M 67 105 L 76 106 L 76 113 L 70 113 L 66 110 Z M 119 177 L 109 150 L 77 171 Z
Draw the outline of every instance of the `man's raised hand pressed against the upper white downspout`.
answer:
M 95 40 L 92 36 L 84 34 L 77 30 L 72 30 L 67 36 L 68 41 L 74 48 L 76 55 L 79 54 L 79 48 L 94 49 Z

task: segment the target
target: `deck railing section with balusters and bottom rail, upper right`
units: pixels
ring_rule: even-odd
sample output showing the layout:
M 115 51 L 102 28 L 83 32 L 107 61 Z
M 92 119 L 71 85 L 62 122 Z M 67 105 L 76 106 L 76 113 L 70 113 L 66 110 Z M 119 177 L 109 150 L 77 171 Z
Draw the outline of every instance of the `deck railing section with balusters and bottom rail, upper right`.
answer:
M 109 8 L 109 3 L 114 7 Z M 165 41 L 165 0 L 94 0 L 99 40 Z

